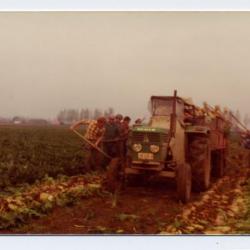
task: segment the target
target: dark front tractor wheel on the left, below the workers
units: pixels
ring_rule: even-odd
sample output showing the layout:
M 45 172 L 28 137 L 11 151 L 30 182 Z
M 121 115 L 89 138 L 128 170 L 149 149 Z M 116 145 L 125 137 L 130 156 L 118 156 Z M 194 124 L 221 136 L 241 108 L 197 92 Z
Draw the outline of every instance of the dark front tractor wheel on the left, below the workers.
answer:
M 113 158 L 107 166 L 106 176 L 103 186 L 110 192 L 115 192 L 121 187 L 122 180 L 120 178 L 121 159 Z

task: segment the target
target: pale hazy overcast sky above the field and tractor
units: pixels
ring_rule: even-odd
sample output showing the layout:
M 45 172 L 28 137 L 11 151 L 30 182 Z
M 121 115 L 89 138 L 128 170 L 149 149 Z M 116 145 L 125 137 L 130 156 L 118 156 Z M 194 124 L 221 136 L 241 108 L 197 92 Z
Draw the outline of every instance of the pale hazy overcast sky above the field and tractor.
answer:
M 174 89 L 244 115 L 249 27 L 250 12 L 2 12 L 0 117 L 114 107 L 136 118 Z

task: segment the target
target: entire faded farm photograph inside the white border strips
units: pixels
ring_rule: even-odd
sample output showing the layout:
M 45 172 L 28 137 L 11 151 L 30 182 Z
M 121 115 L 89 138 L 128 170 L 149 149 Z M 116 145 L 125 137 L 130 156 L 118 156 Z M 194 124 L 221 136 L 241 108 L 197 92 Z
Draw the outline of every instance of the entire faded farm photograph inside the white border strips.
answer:
M 249 24 L 0 12 L 0 234 L 249 234 Z

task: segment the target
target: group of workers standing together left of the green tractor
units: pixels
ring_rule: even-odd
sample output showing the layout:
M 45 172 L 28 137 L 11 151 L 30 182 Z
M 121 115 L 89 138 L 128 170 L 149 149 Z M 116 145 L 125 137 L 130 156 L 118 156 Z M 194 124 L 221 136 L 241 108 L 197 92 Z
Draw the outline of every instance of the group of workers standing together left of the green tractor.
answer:
M 99 117 L 97 120 L 81 120 L 70 128 L 75 130 L 81 125 L 87 125 L 84 138 L 85 168 L 87 171 L 105 168 L 108 159 L 104 160 L 96 148 L 101 148 L 110 158 L 124 157 L 129 134 L 129 116 L 121 114 L 110 115 L 108 118 Z

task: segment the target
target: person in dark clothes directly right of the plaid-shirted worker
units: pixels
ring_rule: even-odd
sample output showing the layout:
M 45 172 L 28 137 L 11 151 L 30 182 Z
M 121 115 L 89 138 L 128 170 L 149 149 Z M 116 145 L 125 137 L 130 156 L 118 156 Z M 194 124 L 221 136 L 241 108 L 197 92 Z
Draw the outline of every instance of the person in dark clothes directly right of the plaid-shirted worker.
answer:
M 114 116 L 109 116 L 108 122 L 105 124 L 105 133 L 103 136 L 104 151 L 111 157 L 117 156 L 117 143 L 119 140 L 120 129 L 115 122 Z

